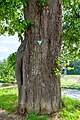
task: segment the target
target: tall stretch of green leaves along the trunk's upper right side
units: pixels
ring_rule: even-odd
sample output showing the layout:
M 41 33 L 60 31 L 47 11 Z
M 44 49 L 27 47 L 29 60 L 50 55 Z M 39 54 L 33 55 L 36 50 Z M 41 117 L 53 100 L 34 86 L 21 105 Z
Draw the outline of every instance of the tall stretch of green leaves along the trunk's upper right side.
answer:
M 80 1 L 63 0 L 62 58 L 80 58 Z

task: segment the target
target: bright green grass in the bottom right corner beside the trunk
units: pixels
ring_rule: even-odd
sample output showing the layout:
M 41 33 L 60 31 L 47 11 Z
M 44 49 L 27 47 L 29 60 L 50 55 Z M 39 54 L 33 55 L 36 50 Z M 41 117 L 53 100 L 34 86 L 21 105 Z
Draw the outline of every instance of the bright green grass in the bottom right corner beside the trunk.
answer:
M 60 116 L 62 120 L 80 120 L 80 101 L 64 97 Z

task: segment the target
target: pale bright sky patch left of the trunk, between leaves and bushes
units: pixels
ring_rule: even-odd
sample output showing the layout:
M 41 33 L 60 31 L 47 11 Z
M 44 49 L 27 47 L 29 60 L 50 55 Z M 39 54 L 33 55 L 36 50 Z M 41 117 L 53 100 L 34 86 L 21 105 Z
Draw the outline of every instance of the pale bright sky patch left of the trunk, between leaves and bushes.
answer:
M 16 52 L 19 45 L 17 34 L 0 36 L 0 60 L 6 59 L 9 54 Z

